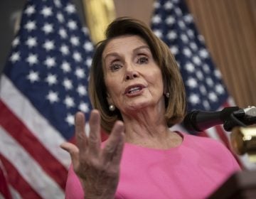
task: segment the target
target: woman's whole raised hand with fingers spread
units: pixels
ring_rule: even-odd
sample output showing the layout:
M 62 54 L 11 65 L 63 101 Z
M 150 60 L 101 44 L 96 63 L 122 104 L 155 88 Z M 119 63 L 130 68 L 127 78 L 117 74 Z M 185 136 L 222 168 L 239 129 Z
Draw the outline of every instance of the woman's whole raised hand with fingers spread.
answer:
M 75 115 L 75 138 L 77 146 L 65 142 L 61 148 L 71 156 L 75 173 L 85 190 L 86 198 L 114 198 L 119 181 L 119 164 L 124 146 L 124 124 L 117 121 L 101 148 L 100 113 L 92 110 L 90 134 L 85 134 L 85 116 Z

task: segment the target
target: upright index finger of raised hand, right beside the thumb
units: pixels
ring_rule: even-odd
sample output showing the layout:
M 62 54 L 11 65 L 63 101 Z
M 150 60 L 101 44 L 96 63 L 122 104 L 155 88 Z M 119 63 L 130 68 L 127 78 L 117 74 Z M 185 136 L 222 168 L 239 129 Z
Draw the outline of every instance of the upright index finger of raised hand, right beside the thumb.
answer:
M 80 154 L 84 154 L 87 147 L 87 136 L 85 134 L 85 115 L 82 112 L 75 114 L 75 141 Z

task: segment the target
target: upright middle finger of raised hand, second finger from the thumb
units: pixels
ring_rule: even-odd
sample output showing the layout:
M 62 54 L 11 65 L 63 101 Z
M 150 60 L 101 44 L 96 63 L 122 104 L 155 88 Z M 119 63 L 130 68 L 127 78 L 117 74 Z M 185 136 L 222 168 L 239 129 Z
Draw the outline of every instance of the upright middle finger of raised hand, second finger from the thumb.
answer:
M 90 135 L 88 146 L 90 153 L 96 156 L 100 153 L 100 113 L 97 110 L 92 110 L 90 114 Z

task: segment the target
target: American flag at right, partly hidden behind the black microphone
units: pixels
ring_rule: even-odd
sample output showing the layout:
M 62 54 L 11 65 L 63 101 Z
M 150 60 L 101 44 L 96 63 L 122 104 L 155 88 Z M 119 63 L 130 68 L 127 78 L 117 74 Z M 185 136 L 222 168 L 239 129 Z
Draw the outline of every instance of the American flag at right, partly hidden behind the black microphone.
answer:
M 203 36 L 196 29 L 186 1 L 155 1 L 151 28 L 176 58 L 186 87 L 188 112 L 193 109 L 217 111 L 234 105 L 220 71 L 210 58 Z M 222 126 L 207 129 L 200 135 L 223 141 L 230 149 L 230 134 Z M 255 167 L 247 161 L 247 157 L 242 158 L 245 167 Z

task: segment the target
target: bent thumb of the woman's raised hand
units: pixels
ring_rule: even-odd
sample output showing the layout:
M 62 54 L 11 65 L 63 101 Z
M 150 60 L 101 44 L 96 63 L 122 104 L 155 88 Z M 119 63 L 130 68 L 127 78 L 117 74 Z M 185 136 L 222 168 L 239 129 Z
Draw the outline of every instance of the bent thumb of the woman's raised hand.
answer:
M 69 142 L 64 142 L 63 144 L 60 144 L 60 148 L 64 149 L 65 151 L 68 151 L 71 157 L 71 161 L 73 164 L 74 170 L 78 168 L 79 165 L 79 149 L 75 144 L 71 144 Z

